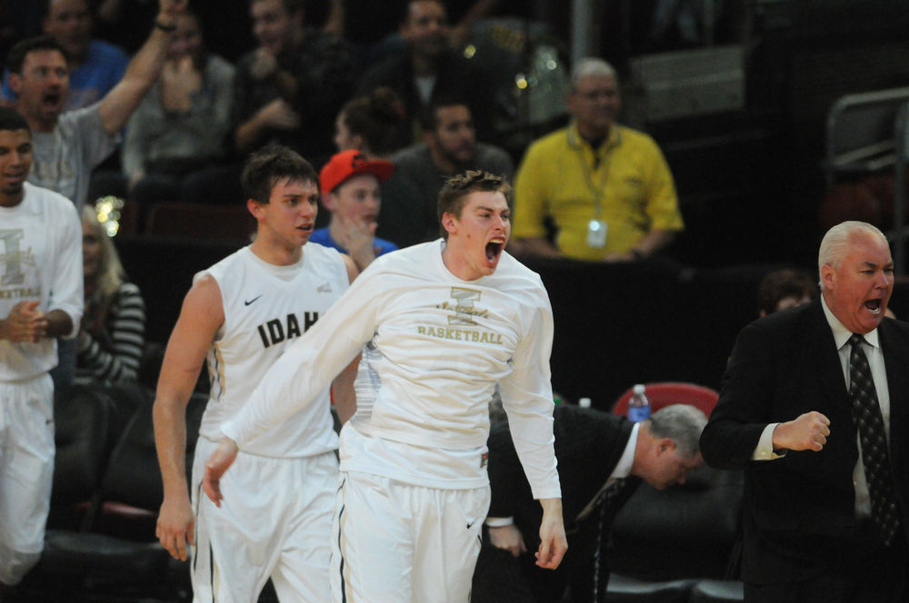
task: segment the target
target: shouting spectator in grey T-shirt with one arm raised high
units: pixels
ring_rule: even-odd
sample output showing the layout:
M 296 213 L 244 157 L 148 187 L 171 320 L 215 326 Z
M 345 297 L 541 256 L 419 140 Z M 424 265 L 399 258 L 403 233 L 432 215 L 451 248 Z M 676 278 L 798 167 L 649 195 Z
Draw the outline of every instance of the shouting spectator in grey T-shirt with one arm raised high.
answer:
M 91 171 L 113 153 L 118 133 L 155 84 L 186 0 L 159 0 L 151 35 L 126 67 L 123 79 L 95 104 L 65 111 L 69 65 L 54 38 L 29 38 L 7 57 L 9 83 L 18 96 L 35 143 L 29 182 L 63 194 L 78 209 L 86 202 Z

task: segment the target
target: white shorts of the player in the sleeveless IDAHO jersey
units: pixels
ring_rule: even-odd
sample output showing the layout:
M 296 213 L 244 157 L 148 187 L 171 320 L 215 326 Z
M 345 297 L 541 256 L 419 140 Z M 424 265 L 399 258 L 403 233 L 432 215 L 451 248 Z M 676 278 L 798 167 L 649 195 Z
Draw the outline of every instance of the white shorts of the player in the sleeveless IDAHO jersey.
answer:
M 271 459 L 240 452 L 221 479 L 219 509 L 201 487 L 216 447 L 199 438 L 195 448 L 193 600 L 255 603 L 272 578 L 281 603 L 328 601 L 335 453 Z

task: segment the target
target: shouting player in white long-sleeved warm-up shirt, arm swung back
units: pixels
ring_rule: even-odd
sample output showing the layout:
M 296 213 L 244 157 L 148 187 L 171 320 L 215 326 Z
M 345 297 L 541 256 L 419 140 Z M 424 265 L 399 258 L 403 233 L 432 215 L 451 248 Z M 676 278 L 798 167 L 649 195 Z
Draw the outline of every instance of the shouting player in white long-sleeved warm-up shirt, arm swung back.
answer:
M 489 506 L 484 452 L 496 384 L 543 508 L 537 563 L 562 560 L 552 309 L 540 277 L 504 253 L 509 188 L 482 172 L 449 179 L 439 195 L 444 239 L 376 259 L 222 426 L 205 492 L 228 504 L 225 471 L 237 447 L 311 407 L 366 346 L 356 414 L 341 431 L 335 603 L 469 598 Z

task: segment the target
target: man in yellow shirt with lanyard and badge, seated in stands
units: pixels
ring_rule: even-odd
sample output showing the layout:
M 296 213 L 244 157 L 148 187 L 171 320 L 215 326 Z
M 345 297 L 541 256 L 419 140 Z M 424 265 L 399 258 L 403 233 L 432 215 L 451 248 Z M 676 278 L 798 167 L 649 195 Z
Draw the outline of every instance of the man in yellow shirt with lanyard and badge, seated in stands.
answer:
M 530 145 L 514 179 L 514 253 L 621 262 L 658 252 L 684 229 L 672 173 L 654 140 L 615 123 L 613 67 L 582 59 L 572 122 Z M 555 244 L 546 238 L 554 222 Z

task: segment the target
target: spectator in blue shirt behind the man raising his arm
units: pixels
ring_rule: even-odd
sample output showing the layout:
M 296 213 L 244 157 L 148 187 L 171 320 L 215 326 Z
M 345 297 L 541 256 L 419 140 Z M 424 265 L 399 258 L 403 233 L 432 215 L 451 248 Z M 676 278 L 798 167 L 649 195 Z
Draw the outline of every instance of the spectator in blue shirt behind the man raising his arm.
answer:
M 69 64 L 69 94 L 65 111 L 100 101 L 123 78 L 129 57 L 121 49 L 92 37 L 92 6 L 88 0 L 41 0 L 41 26 L 65 50 Z M 3 98 L 15 101 L 8 75 Z

